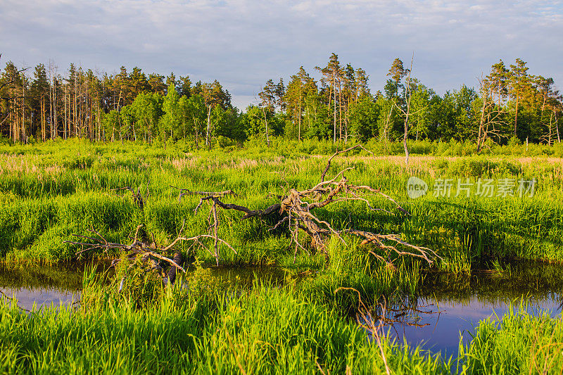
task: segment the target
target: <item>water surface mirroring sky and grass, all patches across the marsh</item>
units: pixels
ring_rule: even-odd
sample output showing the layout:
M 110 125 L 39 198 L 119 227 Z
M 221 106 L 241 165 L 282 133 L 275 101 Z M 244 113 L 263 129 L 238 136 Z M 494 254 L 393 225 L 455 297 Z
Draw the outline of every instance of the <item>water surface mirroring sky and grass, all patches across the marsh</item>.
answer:
M 101 264 L 100 270 L 104 267 L 107 265 Z M 399 343 L 402 343 L 404 338 L 409 345 L 421 345 L 423 350 L 441 351 L 447 356 L 456 356 L 460 334 L 467 343 L 471 339 L 469 333 L 473 333 L 474 327 L 481 320 L 488 317 L 496 319 L 495 314 L 502 317 L 509 310 L 510 305 L 518 308 L 520 300 L 514 299 L 515 295 L 528 295 L 533 291 L 527 307 L 529 313 L 537 313 L 541 309 L 549 310 L 552 316 L 561 314 L 562 289 L 559 284 L 548 285 L 546 281 L 563 280 L 563 274 L 546 272 L 546 267 L 542 265 L 542 272 L 539 274 L 524 272 L 525 269 L 523 272 L 514 272 L 519 276 L 496 284 L 493 282 L 494 279 L 488 277 L 472 277 L 471 286 L 466 289 L 436 279 L 436 283 L 431 284 L 433 288 L 438 286 L 436 291 L 439 291 L 441 286 L 448 288 L 435 297 L 432 288 L 426 286 L 424 288 L 427 292 L 426 297 L 417 300 L 417 310 L 421 312 L 412 312 L 410 315 L 398 318 L 403 322 L 417 323 L 419 326 L 395 323 L 393 326 L 387 326 L 385 330 Z M 15 296 L 18 305 L 28 310 L 34 303 L 37 307 L 49 307 L 51 303 L 55 307 L 61 304 L 68 305 L 80 299 L 78 288 L 82 284 L 83 269 L 84 267 L 69 269 L 62 266 L 8 269 L 0 265 L 0 276 L 4 275 L 3 279 L 0 278 L 0 290 L 10 298 Z M 284 272 L 274 267 L 219 267 L 212 268 L 212 274 L 241 286 L 252 286 L 256 278 L 269 279 L 280 284 L 283 284 L 284 280 Z M 55 280 L 55 277 L 58 279 Z M 542 277 L 543 284 L 539 282 Z M 16 283 L 15 280 L 18 282 Z M 509 281 L 513 283 L 514 280 L 519 280 L 517 293 L 512 293 L 516 290 L 509 283 Z M 458 294 L 467 295 L 460 293 L 462 289 L 472 296 L 458 298 Z M 512 298 L 504 295 L 512 295 Z M 389 313 L 391 318 L 395 314 L 400 314 L 400 312 L 388 312 L 388 316 Z M 424 324 L 428 325 L 420 326 Z

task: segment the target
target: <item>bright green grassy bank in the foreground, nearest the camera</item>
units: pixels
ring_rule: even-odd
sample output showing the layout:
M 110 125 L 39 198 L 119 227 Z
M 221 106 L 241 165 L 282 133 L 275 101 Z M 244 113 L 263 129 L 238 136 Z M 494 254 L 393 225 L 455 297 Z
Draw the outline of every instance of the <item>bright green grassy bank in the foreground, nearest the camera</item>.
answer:
M 78 310 L 23 313 L 0 302 L 0 371 L 385 372 L 380 348 L 365 330 L 292 288 L 256 284 L 243 293 L 216 293 L 192 280 L 189 293 L 168 290 L 144 307 L 124 297 L 98 298 L 103 293 L 96 290 Z M 429 355 L 387 338 L 381 347 L 393 374 L 558 374 L 562 328 L 561 319 L 545 314 L 511 313 L 481 322 L 473 340 L 460 345 L 458 358 Z

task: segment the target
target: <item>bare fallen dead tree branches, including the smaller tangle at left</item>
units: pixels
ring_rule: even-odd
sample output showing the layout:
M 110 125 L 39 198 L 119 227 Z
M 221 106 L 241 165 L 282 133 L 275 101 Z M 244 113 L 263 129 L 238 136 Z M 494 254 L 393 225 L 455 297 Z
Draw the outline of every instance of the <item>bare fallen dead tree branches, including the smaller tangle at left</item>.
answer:
M 176 251 L 172 258 L 169 258 L 167 256 L 167 254 L 172 251 L 176 244 L 181 241 L 192 242 L 192 246 L 189 248 L 189 250 L 191 250 L 191 248 L 193 248 L 194 246 L 205 248 L 205 250 L 207 250 L 210 255 L 215 258 L 217 265 L 219 265 L 220 248 L 222 245 L 227 246 L 234 253 L 236 253 L 236 250 L 234 250 L 234 248 L 229 245 L 229 243 L 227 243 L 223 239 L 220 239 L 218 235 L 220 227 L 218 212 L 220 209 L 223 209 L 244 212 L 245 215 L 241 217 L 241 220 L 248 220 L 253 217 L 263 220 L 267 217 L 276 217 L 275 215 L 278 215 L 277 217 L 279 217 L 279 220 L 277 220 L 275 224 L 272 224 L 272 226 L 268 230 L 274 231 L 279 227 L 287 225 L 287 229 L 289 229 L 289 232 L 291 234 L 291 241 L 295 245 L 295 250 L 293 253 L 294 259 L 296 258 L 297 251 L 300 248 L 306 253 L 310 253 L 308 248 L 310 248 L 310 250 L 314 252 L 320 251 L 324 253 L 325 257 L 328 258 L 328 246 L 331 237 L 336 237 L 339 241 L 341 241 L 341 243 L 343 243 L 344 246 L 347 246 L 344 237 L 346 235 L 350 235 L 360 237 L 362 239 L 360 246 L 367 248 L 367 251 L 370 254 L 374 255 L 377 260 L 385 262 L 386 266 L 388 267 L 395 267 L 393 265 L 393 262 L 403 256 L 419 258 L 425 260 L 429 265 L 432 265 L 434 259 L 439 258 L 433 250 L 412 245 L 407 241 L 403 241 L 403 239 L 401 239 L 397 234 L 376 234 L 372 233 L 371 231 L 365 231 L 355 228 L 335 229 L 327 221 L 320 220 L 315 215 L 315 210 L 324 208 L 327 205 L 337 202 L 350 201 L 360 201 L 364 203 L 367 209 L 371 211 L 384 211 L 392 214 L 392 212 L 384 210 L 383 208 L 372 207 L 372 204 L 367 200 L 368 196 L 380 196 L 386 201 L 393 203 L 394 207 L 399 212 L 402 212 L 405 215 L 410 215 L 409 212 L 401 207 L 399 203 L 393 200 L 393 198 L 391 198 L 390 196 L 387 196 L 380 189 L 375 189 L 371 186 L 365 185 L 355 185 L 348 181 L 344 173 L 348 170 L 352 170 L 353 167 L 348 167 L 344 170 L 341 170 L 332 179 L 326 179 L 327 172 L 329 171 L 331 166 L 331 161 L 336 157 L 336 155 L 346 153 L 355 148 L 363 147 L 361 145 L 357 145 L 347 148 L 343 151 L 337 151 L 336 153 L 334 153 L 334 155 L 331 155 L 327 162 L 327 166 L 322 171 L 320 182 L 318 184 L 312 186 L 312 188 L 310 189 L 301 191 L 298 191 L 296 189 L 289 189 L 289 191 L 287 191 L 285 195 L 275 196 L 278 202 L 270 205 L 263 210 L 253 210 L 243 205 L 223 202 L 224 198 L 236 196 L 236 194 L 232 190 L 218 192 L 190 191 L 189 189 L 182 189 L 171 186 L 179 191 L 179 202 L 181 202 L 182 198 L 186 195 L 201 196 L 198 205 L 196 205 L 196 208 L 194 209 L 194 213 L 198 212 L 203 203 L 210 203 L 210 210 L 207 217 L 209 223 L 208 234 L 199 234 L 193 237 L 182 236 L 185 224 L 184 220 L 184 224 L 182 224 L 182 229 L 180 229 L 177 238 L 168 246 L 156 246 L 154 240 L 151 243 L 149 243 L 149 241 L 141 241 L 139 239 L 139 229 L 141 229 L 142 225 L 139 225 L 137 227 L 134 237 L 132 238 L 132 243 L 128 245 L 124 243 L 111 243 L 107 241 L 101 234 L 99 234 L 99 232 L 94 228 L 90 229 L 90 231 L 95 236 L 82 236 L 74 234 L 73 236 L 82 238 L 84 239 L 84 241 L 65 241 L 65 243 L 70 243 L 75 246 L 82 246 L 82 249 L 77 251 L 76 255 L 80 255 L 85 251 L 94 249 L 103 249 L 103 251 L 106 253 L 108 252 L 108 250 L 119 249 L 122 253 L 127 254 L 126 258 L 128 260 L 135 260 L 140 258 L 142 261 L 141 263 L 143 263 L 144 265 L 149 262 L 151 265 L 151 267 L 149 268 L 160 272 L 163 277 L 163 281 L 165 281 L 165 284 L 171 284 L 175 279 L 177 271 L 183 273 L 186 272 L 186 270 L 181 265 L 181 253 Z M 139 190 L 135 192 L 129 187 L 122 189 L 131 191 L 135 202 L 139 204 L 139 207 L 143 207 L 144 201 Z M 305 246 L 305 243 L 303 242 L 303 236 L 301 236 L 301 234 L 305 234 L 305 237 L 308 237 L 310 239 L 310 246 Z M 213 240 L 213 248 L 211 248 L 211 246 L 205 246 L 203 239 Z M 374 251 L 376 249 L 382 250 L 383 253 L 376 253 Z M 392 255 L 396 256 L 392 258 Z M 115 265 L 117 262 L 119 262 L 119 259 L 114 260 L 113 265 Z M 163 267 L 161 265 L 162 262 L 164 262 L 167 267 Z M 125 276 L 121 280 L 120 291 L 123 286 L 123 282 L 127 278 L 127 274 L 129 274 L 129 270 L 132 267 L 138 267 L 137 262 L 131 262 L 131 264 L 129 265 L 129 269 L 127 269 Z M 165 273 L 165 268 L 168 269 L 167 274 Z

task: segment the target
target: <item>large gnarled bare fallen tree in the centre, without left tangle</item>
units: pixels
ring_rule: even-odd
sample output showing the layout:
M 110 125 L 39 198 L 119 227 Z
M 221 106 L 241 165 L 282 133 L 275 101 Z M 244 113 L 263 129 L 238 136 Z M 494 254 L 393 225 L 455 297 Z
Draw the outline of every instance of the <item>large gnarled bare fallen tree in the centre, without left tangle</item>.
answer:
M 311 248 L 313 250 L 320 250 L 324 252 L 325 255 L 327 255 L 327 246 L 331 236 L 336 236 L 339 241 L 346 245 L 346 241 L 343 239 L 343 234 L 352 234 L 364 239 L 361 243 L 362 246 L 372 245 L 384 250 L 386 253 L 385 258 L 374 253 L 372 250 L 369 250 L 369 253 L 374 255 L 378 260 L 387 262 L 390 266 L 393 266 L 392 260 L 389 258 L 391 253 L 395 253 L 400 256 L 421 258 L 428 262 L 429 265 L 432 265 L 434 262 L 433 258 L 438 258 L 438 255 L 436 255 L 434 251 L 407 243 L 395 234 L 374 234 L 368 231 L 360 231 L 356 229 L 334 229 L 331 224 L 324 220 L 320 220 L 313 215 L 313 211 L 315 209 L 324 208 L 331 203 L 344 201 L 361 201 L 362 203 L 365 203 L 366 207 L 371 211 L 388 212 L 381 208 L 373 208 L 367 198 L 365 198 L 367 195 L 380 196 L 381 198 L 393 203 L 396 210 L 403 212 L 405 215 L 409 215 L 407 210 L 401 207 L 399 203 L 393 200 L 393 198 L 382 193 L 380 189 L 350 183 L 344 176 L 344 173 L 353 169 L 352 167 L 341 170 L 341 172 L 337 173 L 332 179 L 325 180 L 332 159 L 336 157 L 336 155 L 346 153 L 355 148 L 365 149 L 361 145 L 356 145 L 343 151 L 337 151 L 329 158 L 327 166 L 321 174 L 320 182 L 317 185 L 312 186 L 311 189 L 303 191 L 289 189 L 285 196 L 277 196 L 279 203 L 274 203 L 264 210 L 251 210 L 250 208 L 246 208 L 242 205 L 222 202 L 220 198 L 235 195 L 231 190 L 221 192 L 204 192 L 189 191 L 188 189 L 180 189 L 175 186 L 171 187 L 180 191 L 178 196 L 179 201 L 182 199 L 182 196 L 186 194 L 203 196 L 194 210 L 196 213 L 204 201 L 213 202 L 208 217 L 213 217 L 213 223 L 210 222 L 210 229 L 213 229 L 213 236 L 215 239 L 217 239 L 217 228 L 219 226 L 217 207 L 224 210 L 238 210 L 244 212 L 245 215 L 241 217 L 242 220 L 250 217 L 259 217 L 262 219 L 274 213 L 278 213 L 282 216 L 281 220 L 274 224 L 269 230 L 273 231 L 284 224 L 289 226 L 291 239 L 295 244 L 294 258 L 296 257 L 298 249 L 301 248 L 302 250 L 308 251 L 299 239 L 299 234 L 303 231 L 305 234 L 308 234 L 311 239 Z M 396 246 L 400 246 L 400 249 Z M 215 254 L 218 254 L 217 243 L 215 243 Z

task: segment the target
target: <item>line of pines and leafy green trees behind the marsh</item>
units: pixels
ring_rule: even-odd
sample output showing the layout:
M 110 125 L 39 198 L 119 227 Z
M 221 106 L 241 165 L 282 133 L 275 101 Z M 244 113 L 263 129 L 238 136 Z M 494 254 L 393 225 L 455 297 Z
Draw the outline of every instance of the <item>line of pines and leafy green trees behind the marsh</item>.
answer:
M 1 55 L 0 55 L 1 56 Z M 315 67 L 303 66 L 287 84 L 267 80 L 257 103 L 240 111 L 220 82 L 195 84 L 190 77 L 139 68 L 94 72 L 52 62 L 0 74 L 0 134 L 13 142 L 71 137 L 91 141 L 176 141 L 196 146 L 270 136 L 348 142 L 428 139 L 490 142 L 560 142 L 562 96 L 552 78 L 531 75 L 526 63 L 501 60 L 479 79 L 443 95 L 426 87 L 396 58 L 383 91 L 372 94 L 362 68 L 343 65 L 332 53 Z M 405 146 L 406 149 L 406 146 Z

